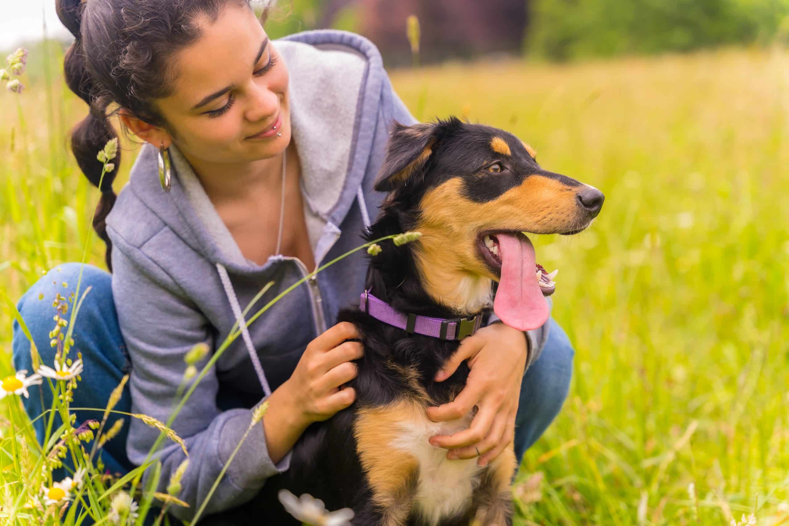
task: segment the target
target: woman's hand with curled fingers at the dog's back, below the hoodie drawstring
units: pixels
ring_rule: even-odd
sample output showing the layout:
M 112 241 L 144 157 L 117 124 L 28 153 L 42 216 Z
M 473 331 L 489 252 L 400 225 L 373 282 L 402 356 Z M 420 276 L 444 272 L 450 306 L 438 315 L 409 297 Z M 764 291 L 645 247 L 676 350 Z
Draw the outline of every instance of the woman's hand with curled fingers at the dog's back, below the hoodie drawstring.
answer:
M 353 323 L 342 322 L 310 341 L 290 379 L 268 398 L 263 417 L 269 457 L 279 462 L 290 451 L 309 424 L 327 420 L 353 404 L 353 387 L 340 386 L 356 378 L 364 348 Z

